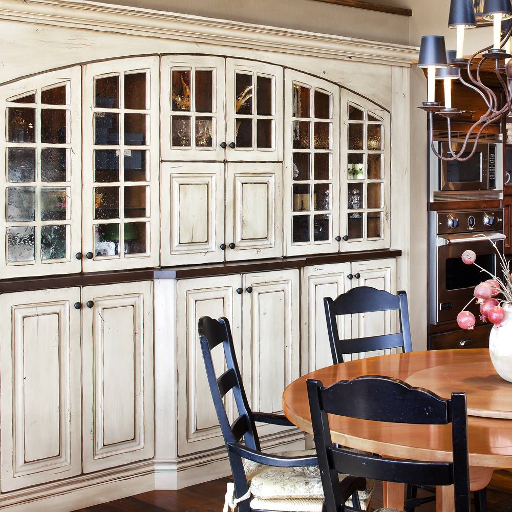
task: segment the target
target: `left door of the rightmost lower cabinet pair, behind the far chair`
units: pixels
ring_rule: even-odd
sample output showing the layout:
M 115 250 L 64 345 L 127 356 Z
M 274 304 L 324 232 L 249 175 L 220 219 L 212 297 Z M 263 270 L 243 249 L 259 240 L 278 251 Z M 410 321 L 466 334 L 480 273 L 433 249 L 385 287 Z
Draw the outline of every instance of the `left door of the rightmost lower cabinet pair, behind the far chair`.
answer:
M 302 278 L 302 374 L 332 365 L 324 297 L 350 289 L 350 263 L 304 267 Z M 340 339 L 351 337 L 350 315 L 338 317 Z M 348 359 L 350 360 L 350 359 Z

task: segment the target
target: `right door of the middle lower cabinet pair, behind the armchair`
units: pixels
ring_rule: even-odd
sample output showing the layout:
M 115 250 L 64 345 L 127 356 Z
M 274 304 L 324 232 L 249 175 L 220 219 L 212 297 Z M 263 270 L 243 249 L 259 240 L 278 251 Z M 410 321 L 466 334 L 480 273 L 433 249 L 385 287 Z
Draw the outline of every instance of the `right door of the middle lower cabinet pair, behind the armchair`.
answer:
M 282 412 L 283 391 L 300 376 L 298 279 L 296 269 L 243 275 L 242 373 L 253 411 Z

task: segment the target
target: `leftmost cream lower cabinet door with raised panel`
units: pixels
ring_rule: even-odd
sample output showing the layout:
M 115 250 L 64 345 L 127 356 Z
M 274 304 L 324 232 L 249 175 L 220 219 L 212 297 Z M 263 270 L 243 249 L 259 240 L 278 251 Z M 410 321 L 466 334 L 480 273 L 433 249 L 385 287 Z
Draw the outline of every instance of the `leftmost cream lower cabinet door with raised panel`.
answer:
M 79 475 L 80 289 L 0 296 L 1 488 Z

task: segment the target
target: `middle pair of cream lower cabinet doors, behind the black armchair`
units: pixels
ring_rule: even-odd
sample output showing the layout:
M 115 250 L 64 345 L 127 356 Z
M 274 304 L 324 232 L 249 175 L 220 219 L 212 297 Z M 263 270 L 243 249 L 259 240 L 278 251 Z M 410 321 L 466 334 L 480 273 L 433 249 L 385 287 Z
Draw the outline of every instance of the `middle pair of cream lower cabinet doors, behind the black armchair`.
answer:
M 199 318 L 228 318 L 251 407 L 280 412 L 284 388 L 300 374 L 298 289 L 296 269 L 178 281 L 179 455 L 224 444 L 199 345 Z M 217 371 L 222 372 L 222 346 L 212 355 Z M 235 419 L 233 406 L 228 393 L 226 409 L 231 420 Z M 265 425 L 260 432 L 278 430 Z

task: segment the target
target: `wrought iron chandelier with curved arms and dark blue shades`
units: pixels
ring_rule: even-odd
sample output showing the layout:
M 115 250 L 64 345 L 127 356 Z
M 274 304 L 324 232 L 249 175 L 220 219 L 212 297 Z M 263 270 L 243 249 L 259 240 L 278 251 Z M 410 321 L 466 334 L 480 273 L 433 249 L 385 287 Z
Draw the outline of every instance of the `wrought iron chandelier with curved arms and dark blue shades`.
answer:
M 418 67 L 427 69 L 428 89 L 427 101 L 418 108 L 428 112 L 430 144 L 434 153 L 442 160 L 469 160 L 475 154 L 485 127 L 512 113 L 511 0 L 485 0 L 483 17 L 493 22 L 493 45 L 479 50 L 468 59 L 464 58 L 463 53 L 464 31 L 476 27 L 473 0 L 451 0 L 448 27 L 457 30 L 456 51 L 446 51 L 443 36 L 426 35 L 421 38 Z M 482 65 L 487 60 L 494 61 L 496 76 L 504 90 L 504 106 L 500 105 L 496 93 L 480 77 Z M 464 79 L 463 70 L 467 71 L 467 79 Z M 458 153 L 453 151 L 451 119 L 464 111 L 452 108 L 451 84 L 454 79 L 478 93 L 487 106 L 487 112 L 467 132 Z M 444 81 L 444 105 L 435 101 L 436 80 Z M 446 118 L 451 157 L 442 156 L 436 150 L 433 140 L 434 115 Z

